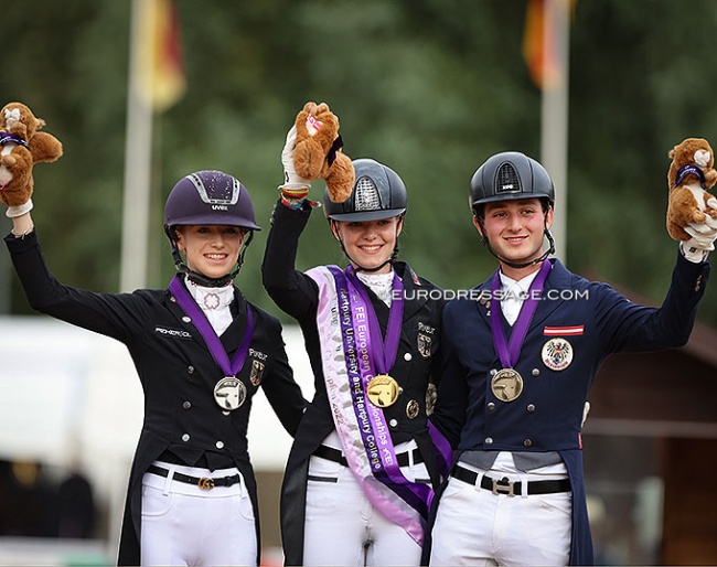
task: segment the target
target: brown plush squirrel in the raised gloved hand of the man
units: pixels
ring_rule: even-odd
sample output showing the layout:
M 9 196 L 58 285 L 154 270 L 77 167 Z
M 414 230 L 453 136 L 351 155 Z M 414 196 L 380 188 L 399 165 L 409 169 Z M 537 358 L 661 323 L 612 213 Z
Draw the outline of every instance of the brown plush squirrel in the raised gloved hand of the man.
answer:
M 667 233 L 688 259 L 702 261 L 717 237 L 717 199 L 707 192 L 717 183 L 715 154 L 707 140 L 686 138 L 667 157 Z

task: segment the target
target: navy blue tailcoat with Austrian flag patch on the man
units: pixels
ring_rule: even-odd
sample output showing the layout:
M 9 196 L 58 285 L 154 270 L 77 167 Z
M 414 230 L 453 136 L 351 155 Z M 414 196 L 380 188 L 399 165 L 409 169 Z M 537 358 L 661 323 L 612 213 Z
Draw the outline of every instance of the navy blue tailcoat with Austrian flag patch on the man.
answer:
M 543 300 L 527 330 L 514 368 L 523 377 L 513 402 L 491 391 L 491 372 L 502 368 L 493 346 L 490 301 L 492 278 L 471 298 L 456 299 L 443 311 L 441 379 L 431 419 L 462 451 L 557 451 L 572 489 L 571 565 L 592 563 L 582 474 L 582 410 L 592 381 L 616 352 L 649 352 L 685 344 L 709 264 L 677 258 L 672 285 L 660 308 L 638 306 L 607 284 L 589 281 L 553 259 Z M 569 342 L 572 361 L 563 370 L 544 363 L 544 345 L 556 336 Z M 577 329 L 577 331 L 576 331 Z M 571 331 L 570 331 L 571 330 Z M 510 335 L 509 335 L 510 336 Z M 460 457 L 460 454 L 458 456 Z M 437 499 L 438 501 L 438 499 Z M 440 505 L 438 501 L 438 505 Z

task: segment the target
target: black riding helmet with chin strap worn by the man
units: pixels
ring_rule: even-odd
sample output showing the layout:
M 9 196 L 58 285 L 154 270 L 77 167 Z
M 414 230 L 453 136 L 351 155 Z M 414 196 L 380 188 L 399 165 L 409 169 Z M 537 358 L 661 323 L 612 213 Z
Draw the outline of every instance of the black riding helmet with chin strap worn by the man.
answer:
M 549 249 L 539 258 L 524 264 L 511 263 L 497 256 L 491 247 L 483 227 L 483 214 L 486 203 L 516 199 L 541 200 L 545 220 L 544 234 L 550 245 Z M 473 173 L 470 205 L 481 226 L 483 245 L 488 246 L 491 254 L 507 266 L 525 268 L 545 260 L 550 254 L 555 253 L 555 240 L 553 240 L 553 235 L 547 226 L 548 210 L 555 207 L 555 188 L 548 172 L 533 158 L 517 151 L 506 151 L 491 156 Z

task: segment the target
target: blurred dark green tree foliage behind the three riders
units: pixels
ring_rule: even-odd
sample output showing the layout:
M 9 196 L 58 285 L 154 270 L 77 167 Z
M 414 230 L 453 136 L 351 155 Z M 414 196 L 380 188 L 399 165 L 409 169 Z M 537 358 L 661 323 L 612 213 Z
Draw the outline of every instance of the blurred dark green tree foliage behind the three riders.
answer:
M 403 176 L 402 255 L 417 271 L 462 289 L 494 269 L 471 223 L 468 189 L 493 152 L 539 159 L 541 93 L 521 53 L 524 0 L 178 6 L 188 90 L 154 124 L 152 287 L 173 271 L 161 227 L 167 194 L 191 171 L 221 169 L 247 185 L 265 228 L 239 285 L 279 314 L 259 267 L 279 154 L 307 100 L 324 100 L 340 116 L 349 156 L 373 157 Z M 2 103 L 26 103 L 65 148 L 57 163 L 35 169 L 33 214 L 62 281 L 116 291 L 130 2 L 31 7 L 3 4 L 12 56 Z M 709 64 L 716 20 L 713 0 L 578 0 L 570 29 L 568 265 L 653 303 L 677 254 L 664 228 L 667 150 L 687 136 L 717 147 L 717 114 L 704 103 L 717 81 Z M 313 196 L 322 190 L 314 182 Z M 318 210 L 298 266 L 325 263 L 344 259 Z M 28 312 L 12 281 L 12 311 Z M 708 289 L 699 312 L 711 324 L 716 293 Z

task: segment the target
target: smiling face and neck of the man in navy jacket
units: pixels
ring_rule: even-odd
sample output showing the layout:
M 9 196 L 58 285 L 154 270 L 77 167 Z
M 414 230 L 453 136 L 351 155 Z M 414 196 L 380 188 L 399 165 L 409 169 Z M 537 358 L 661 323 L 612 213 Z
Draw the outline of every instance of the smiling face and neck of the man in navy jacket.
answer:
M 553 224 L 553 208 L 543 212 L 539 199 L 520 199 L 486 203 L 482 224 L 473 223 L 481 236 L 485 236 L 499 256 L 514 264 L 524 264 L 543 255 L 543 235 Z M 520 279 L 538 266 L 511 268 L 501 263 L 503 274 Z M 517 277 L 516 277 L 517 276 Z

